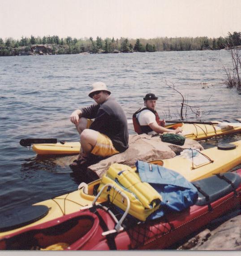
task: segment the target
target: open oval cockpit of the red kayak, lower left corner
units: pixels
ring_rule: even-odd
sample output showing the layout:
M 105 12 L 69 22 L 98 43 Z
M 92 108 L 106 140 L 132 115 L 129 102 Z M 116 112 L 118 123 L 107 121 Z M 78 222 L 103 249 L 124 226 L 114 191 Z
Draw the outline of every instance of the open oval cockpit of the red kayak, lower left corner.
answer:
M 0 241 L 1 250 L 64 250 L 76 241 L 88 241 L 95 232 L 99 220 L 91 213 L 60 221 L 37 225 L 25 232 Z M 83 238 L 83 239 L 81 239 Z

